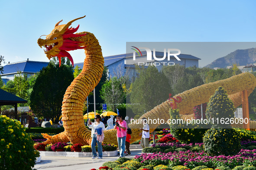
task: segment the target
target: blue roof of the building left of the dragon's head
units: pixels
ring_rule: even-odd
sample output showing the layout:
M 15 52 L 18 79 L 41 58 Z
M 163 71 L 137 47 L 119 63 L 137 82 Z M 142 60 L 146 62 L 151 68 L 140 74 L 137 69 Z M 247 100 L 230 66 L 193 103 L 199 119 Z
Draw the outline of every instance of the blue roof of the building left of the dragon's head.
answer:
M 39 72 L 43 67 L 48 66 L 49 62 L 42 61 L 21 61 L 17 63 L 10 63 L 3 66 L 3 74 L 17 73 L 18 71 L 27 73 Z

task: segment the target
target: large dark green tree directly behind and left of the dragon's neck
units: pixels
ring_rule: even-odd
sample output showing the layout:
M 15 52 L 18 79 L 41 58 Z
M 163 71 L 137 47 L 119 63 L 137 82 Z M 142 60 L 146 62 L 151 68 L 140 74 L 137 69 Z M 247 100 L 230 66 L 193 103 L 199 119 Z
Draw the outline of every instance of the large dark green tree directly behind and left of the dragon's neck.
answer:
M 71 66 L 50 62 L 38 73 L 30 95 L 30 107 L 38 117 L 49 117 L 58 123 L 62 112 L 62 100 L 66 89 L 73 81 Z

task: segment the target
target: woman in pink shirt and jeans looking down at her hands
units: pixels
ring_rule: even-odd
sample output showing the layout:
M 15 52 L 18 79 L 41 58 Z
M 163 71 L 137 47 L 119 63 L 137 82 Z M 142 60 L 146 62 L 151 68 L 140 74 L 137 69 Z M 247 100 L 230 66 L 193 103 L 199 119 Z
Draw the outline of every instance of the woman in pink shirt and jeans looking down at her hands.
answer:
M 114 129 L 117 129 L 117 142 L 120 151 L 120 157 L 124 157 L 127 123 L 122 119 L 120 114 L 117 115 L 117 120 L 118 122 L 116 123 Z

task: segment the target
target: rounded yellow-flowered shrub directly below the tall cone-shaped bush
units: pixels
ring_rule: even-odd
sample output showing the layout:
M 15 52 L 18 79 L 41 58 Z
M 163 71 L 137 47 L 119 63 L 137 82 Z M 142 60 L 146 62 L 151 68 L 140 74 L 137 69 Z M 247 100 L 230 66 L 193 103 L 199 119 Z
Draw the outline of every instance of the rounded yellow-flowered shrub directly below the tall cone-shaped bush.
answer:
M 235 129 L 209 129 L 203 141 L 204 151 L 212 156 L 234 155 L 241 150 L 240 134 Z

